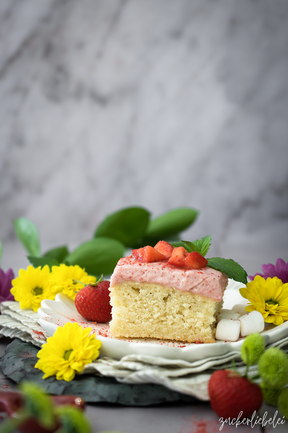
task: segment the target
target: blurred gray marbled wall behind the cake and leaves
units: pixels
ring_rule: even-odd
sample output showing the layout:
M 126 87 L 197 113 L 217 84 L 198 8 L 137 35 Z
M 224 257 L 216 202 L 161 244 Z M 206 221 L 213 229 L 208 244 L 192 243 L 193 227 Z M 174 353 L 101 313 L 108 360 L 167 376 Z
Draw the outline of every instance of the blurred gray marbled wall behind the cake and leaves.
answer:
M 288 260 L 287 0 L 0 0 L 0 239 L 43 251 L 107 213 L 201 211 L 185 239 Z

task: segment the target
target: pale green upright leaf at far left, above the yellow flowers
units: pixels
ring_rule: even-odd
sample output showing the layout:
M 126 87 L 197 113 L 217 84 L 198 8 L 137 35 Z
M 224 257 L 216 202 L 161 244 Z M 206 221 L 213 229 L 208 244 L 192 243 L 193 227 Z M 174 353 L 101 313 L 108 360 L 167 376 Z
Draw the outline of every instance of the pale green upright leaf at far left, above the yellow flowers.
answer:
M 40 256 L 38 229 L 32 221 L 20 217 L 13 221 L 15 233 L 30 255 Z

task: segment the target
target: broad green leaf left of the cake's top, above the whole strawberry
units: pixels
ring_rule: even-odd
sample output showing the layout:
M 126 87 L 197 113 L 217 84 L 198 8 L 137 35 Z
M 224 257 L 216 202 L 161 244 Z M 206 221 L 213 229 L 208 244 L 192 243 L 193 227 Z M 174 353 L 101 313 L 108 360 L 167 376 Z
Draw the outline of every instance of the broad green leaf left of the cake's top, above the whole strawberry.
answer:
M 109 275 L 123 257 L 125 249 L 116 239 L 97 237 L 76 248 L 66 257 L 66 261 L 85 268 L 90 275 Z

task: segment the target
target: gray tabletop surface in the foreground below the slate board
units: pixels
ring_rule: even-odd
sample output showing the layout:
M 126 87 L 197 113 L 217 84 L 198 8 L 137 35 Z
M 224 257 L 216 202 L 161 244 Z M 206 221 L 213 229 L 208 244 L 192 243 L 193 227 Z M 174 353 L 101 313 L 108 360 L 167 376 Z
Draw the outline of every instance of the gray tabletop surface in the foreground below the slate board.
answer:
M 0 356 L 5 353 L 7 344 L 11 340 L 2 338 L 0 340 Z M 6 378 L 0 370 L 0 391 L 13 391 L 16 383 Z M 266 419 L 273 418 L 275 408 L 263 404 L 260 416 L 263 417 L 267 411 Z M 221 423 L 208 402 L 194 404 L 170 403 L 154 405 L 149 407 L 126 407 L 118 404 L 87 404 L 86 414 L 93 426 L 93 433 L 101 431 L 117 431 L 121 433 L 215 433 L 220 430 Z M 282 418 L 282 415 L 279 415 Z M 0 420 L 5 414 L 0 413 Z M 277 416 L 278 418 L 278 416 Z M 276 419 L 277 419 L 276 418 Z M 225 424 L 221 430 L 223 433 L 238 432 L 275 432 L 284 433 L 288 431 L 288 421 L 273 428 L 267 424 L 266 427 L 255 425 L 229 426 Z M 34 433 L 34 432 L 31 432 Z M 35 432 L 36 433 L 36 432 Z

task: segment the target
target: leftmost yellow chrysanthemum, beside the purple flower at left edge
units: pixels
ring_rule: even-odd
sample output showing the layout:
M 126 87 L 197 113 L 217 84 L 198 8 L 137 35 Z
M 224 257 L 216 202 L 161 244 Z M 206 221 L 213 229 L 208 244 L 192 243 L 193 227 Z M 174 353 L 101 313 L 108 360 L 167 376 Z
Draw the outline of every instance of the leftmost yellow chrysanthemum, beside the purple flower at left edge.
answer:
M 12 289 L 15 301 L 19 301 L 21 308 L 33 308 L 37 312 L 43 299 L 55 299 L 55 291 L 50 282 L 50 269 L 45 265 L 27 270 L 19 269 L 19 277 L 12 280 Z

